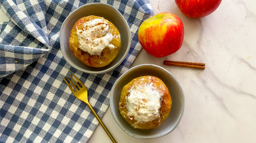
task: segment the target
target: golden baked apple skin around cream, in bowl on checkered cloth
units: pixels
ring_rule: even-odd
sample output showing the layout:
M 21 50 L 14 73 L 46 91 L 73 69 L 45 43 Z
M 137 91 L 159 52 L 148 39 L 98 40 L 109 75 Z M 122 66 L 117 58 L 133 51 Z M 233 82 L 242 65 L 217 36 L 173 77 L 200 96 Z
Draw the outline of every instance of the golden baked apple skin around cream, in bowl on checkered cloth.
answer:
M 83 30 L 83 24 L 87 21 L 93 20 L 93 19 L 103 19 L 107 21 L 107 24 L 109 25 L 109 33 L 111 33 L 114 38 L 110 42 L 115 46 L 114 49 L 110 49 L 108 47 L 104 48 L 103 51 L 101 52 L 101 55 L 90 55 L 87 52 L 82 51 L 78 47 L 78 37 L 76 34 L 76 26 L 77 29 Z M 117 35 L 117 36 L 115 36 Z M 81 19 L 79 19 L 73 26 L 71 33 L 70 33 L 70 38 L 69 38 L 69 47 L 71 52 L 75 55 L 76 58 L 78 58 L 81 62 L 83 62 L 85 65 L 90 66 L 90 67 L 104 67 L 109 65 L 117 56 L 119 49 L 121 47 L 121 39 L 119 35 L 119 31 L 117 30 L 117 27 L 112 24 L 110 21 L 104 19 L 103 17 L 98 17 L 98 16 L 86 16 Z

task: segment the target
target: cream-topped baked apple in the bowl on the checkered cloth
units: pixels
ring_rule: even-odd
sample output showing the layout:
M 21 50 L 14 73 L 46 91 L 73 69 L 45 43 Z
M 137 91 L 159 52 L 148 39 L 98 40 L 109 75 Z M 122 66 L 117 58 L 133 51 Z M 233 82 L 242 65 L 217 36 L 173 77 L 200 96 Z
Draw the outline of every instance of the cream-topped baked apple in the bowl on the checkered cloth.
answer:
M 71 52 L 85 65 L 104 67 L 117 56 L 121 39 L 117 27 L 99 16 L 86 16 L 73 26 L 69 38 Z

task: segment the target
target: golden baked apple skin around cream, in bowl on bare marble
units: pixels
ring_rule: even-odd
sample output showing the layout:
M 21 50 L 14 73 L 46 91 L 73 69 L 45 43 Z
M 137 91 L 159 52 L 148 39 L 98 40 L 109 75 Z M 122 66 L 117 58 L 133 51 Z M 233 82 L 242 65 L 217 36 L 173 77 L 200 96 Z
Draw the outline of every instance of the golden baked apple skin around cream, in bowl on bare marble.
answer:
M 139 79 L 142 79 L 143 82 L 153 82 L 153 86 L 159 89 L 160 91 L 163 92 L 162 96 L 162 102 L 161 102 L 161 107 L 159 109 L 160 111 L 160 118 L 157 118 L 155 120 L 150 120 L 148 122 L 137 122 L 137 120 L 133 119 L 130 120 L 129 117 L 127 116 L 127 108 L 126 108 L 126 96 L 129 95 L 129 89 L 131 89 L 132 85 L 137 82 Z M 149 80 L 150 79 L 150 80 Z M 171 95 L 169 93 L 168 88 L 166 85 L 163 83 L 162 80 L 160 80 L 158 77 L 155 76 L 140 76 L 135 79 L 133 79 L 131 82 L 129 82 L 127 85 L 125 85 L 121 91 L 121 97 L 119 101 L 119 110 L 122 115 L 122 117 L 134 128 L 137 129 L 155 129 L 157 128 L 161 123 L 167 119 L 170 110 L 172 107 L 172 99 Z

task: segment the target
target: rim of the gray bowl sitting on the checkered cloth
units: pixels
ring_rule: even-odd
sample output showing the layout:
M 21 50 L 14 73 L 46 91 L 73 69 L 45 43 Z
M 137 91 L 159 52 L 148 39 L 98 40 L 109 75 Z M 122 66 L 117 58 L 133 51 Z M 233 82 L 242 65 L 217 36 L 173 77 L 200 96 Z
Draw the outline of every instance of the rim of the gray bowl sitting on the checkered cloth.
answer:
M 129 43 L 128 43 L 128 45 L 127 45 L 127 47 L 129 47 L 129 48 L 126 49 L 126 51 L 125 51 L 124 55 L 122 56 L 122 58 L 121 58 L 115 65 L 113 65 L 112 67 L 110 67 L 110 68 L 108 68 L 108 69 L 105 69 L 105 70 L 102 70 L 102 71 L 88 71 L 88 70 L 83 70 L 83 69 L 81 69 L 81 68 L 75 66 L 73 63 L 71 63 L 71 62 L 69 61 L 69 59 L 67 59 L 65 53 L 63 52 L 63 46 L 62 46 L 62 39 L 63 39 L 63 38 L 62 38 L 62 30 L 63 30 L 63 28 L 64 28 L 63 25 L 66 23 L 66 21 L 67 21 L 77 10 L 79 10 L 79 9 L 81 9 L 81 8 L 84 8 L 84 7 L 88 7 L 88 6 L 90 6 L 90 5 L 102 5 L 102 6 L 107 6 L 107 7 L 113 8 L 119 15 L 121 15 L 121 18 L 122 18 L 122 20 L 124 21 L 124 23 L 125 23 L 125 25 L 126 25 L 125 27 L 127 28 L 128 34 L 129 34 L 129 35 L 128 35 L 128 41 L 129 41 Z M 79 7 L 79 8 L 76 8 L 73 12 L 71 12 L 71 13 L 66 17 L 66 19 L 63 21 L 63 23 L 62 23 L 62 25 L 61 25 L 61 28 L 60 28 L 60 36 L 59 36 L 59 39 L 60 39 L 60 50 L 61 50 L 62 56 L 63 56 L 64 59 L 69 63 L 69 65 L 70 65 L 71 67 L 75 68 L 76 70 L 79 70 L 79 71 L 82 71 L 82 72 L 85 72 L 85 73 L 89 73 L 89 74 L 101 74 L 101 73 L 106 73 L 106 72 L 108 72 L 108 71 L 114 70 L 118 65 L 120 65 L 120 64 L 124 61 L 124 59 L 125 59 L 126 56 L 128 55 L 128 53 L 129 53 L 129 51 L 130 51 L 130 48 L 131 48 L 132 34 L 131 34 L 131 30 L 130 30 L 129 24 L 128 24 L 127 21 L 124 19 L 123 15 L 117 10 L 117 8 L 115 8 L 115 7 L 113 7 L 113 6 L 109 5 L 109 4 L 105 4 L 105 3 L 89 3 L 89 4 L 83 5 L 83 6 Z

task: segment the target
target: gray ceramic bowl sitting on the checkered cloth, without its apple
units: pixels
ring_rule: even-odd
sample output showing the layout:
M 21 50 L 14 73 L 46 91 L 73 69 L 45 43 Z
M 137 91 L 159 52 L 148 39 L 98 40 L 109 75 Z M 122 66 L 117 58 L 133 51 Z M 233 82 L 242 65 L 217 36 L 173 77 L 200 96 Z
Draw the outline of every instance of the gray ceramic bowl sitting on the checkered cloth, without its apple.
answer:
M 121 36 L 121 48 L 117 57 L 107 66 L 93 68 L 86 66 L 78 60 L 69 48 L 70 31 L 75 22 L 85 16 L 95 15 L 104 17 L 112 22 L 118 29 Z M 60 29 L 60 49 L 65 60 L 75 69 L 91 74 L 100 74 L 116 68 L 127 56 L 131 46 L 131 32 L 129 25 L 122 14 L 114 7 L 103 3 L 91 3 L 75 9 L 63 22 Z

